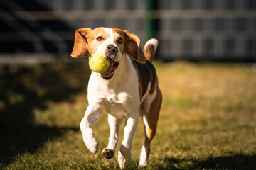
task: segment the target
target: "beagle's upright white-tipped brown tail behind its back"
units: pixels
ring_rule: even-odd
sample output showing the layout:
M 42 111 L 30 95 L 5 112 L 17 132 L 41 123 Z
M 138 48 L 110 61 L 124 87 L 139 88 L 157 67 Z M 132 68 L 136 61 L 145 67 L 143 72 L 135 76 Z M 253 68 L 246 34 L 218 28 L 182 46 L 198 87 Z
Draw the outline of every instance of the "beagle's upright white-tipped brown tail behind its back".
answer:
M 153 57 L 156 53 L 157 46 L 158 46 L 158 40 L 156 40 L 156 38 L 151 38 L 145 44 L 144 55 L 146 59 L 149 60 L 150 62 L 153 61 Z

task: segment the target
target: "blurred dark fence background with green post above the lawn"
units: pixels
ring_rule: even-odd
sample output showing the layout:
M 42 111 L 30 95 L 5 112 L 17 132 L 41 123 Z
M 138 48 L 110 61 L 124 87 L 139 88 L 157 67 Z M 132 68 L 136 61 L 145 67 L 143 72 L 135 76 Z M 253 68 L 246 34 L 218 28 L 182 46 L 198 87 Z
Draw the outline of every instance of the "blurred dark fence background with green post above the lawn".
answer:
M 68 59 L 75 30 L 99 26 L 159 40 L 159 60 L 256 60 L 255 0 L 0 1 L 0 62 Z

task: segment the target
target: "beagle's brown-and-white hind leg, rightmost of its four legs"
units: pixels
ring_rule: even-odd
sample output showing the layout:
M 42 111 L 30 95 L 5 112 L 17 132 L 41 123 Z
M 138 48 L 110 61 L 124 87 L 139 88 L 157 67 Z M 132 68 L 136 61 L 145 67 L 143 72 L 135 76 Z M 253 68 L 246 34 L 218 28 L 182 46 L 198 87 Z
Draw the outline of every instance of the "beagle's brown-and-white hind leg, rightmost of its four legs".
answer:
M 146 100 L 148 99 L 149 98 L 147 98 Z M 149 101 L 145 101 L 145 102 L 149 102 Z M 156 96 L 154 100 L 151 103 L 149 103 L 149 111 L 146 111 L 147 108 L 142 108 L 143 109 L 142 119 L 144 122 L 145 142 L 141 149 L 139 166 L 144 166 L 149 162 L 150 142 L 151 140 L 153 140 L 154 135 L 156 134 L 156 126 L 157 126 L 157 120 L 159 118 L 161 101 L 162 101 L 161 91 L 159 88 L 157 88 Z

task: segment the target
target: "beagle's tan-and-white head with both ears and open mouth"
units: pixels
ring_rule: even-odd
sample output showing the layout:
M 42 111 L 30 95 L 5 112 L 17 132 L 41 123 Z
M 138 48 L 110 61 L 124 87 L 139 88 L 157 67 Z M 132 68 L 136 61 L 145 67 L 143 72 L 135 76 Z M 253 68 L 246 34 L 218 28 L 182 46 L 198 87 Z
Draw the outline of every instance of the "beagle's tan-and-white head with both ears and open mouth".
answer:
M 110 57 L 109 69 L 101 74 L 104 79 L 112 78 L 124 53 L 138 62 L 146 62 L 139 38 L 127 30 L 117 28 L 78 29 L 75 32 L 75 43 L 71 56 L 86 57 L 95 52 L 101 52 Z

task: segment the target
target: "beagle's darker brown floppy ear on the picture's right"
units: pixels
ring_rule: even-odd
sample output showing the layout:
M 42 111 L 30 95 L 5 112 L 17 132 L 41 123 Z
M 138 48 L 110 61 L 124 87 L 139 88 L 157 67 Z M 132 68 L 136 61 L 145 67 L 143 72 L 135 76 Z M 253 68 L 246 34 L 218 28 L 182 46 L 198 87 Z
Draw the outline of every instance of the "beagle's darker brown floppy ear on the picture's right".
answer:
M 140 40 L 137 35 L 130 33 L 127 30 L 124 30 L 125 33 L 125 51 L 129 57 L 132 57 L 134 60 L 138 62 L 145 63 L 146 57 L 144 56 L 144 52 L 142 51 L 142 47 L 140 46 Z

